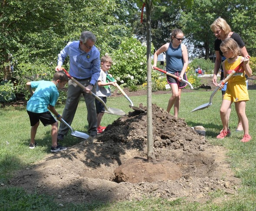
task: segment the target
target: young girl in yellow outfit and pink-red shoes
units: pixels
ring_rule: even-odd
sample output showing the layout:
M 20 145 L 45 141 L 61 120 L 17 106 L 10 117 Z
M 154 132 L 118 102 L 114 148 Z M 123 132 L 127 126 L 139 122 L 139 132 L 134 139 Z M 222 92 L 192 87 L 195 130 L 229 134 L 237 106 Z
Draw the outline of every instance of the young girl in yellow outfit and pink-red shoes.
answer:
M 242 61 L 243 66 L 236 71 L 236 73 L 227 83 L 226 93 L 223 97 L 222 105 L 220 107 L 220 118 L 223 125 L 223 131 L 221 131 L 217 138 L 224 138 L 230 135 L 226 113 L 231 103 L 234 102 L 243 125 L 244 135 L 241 141 L 248 142 L 251 140 L 251 136 L 249 135 L 249 122 L 245 112 L 246 101 L 249 100 L 249 95 L 246 88 L 245 74 L 248 77 L 252 76 L 252 70 L 249 67 L 249 56 L 246 56 L 246 58 L 239 56 L 240 47 L 232 38 L 225 39 L 221 43 L 220 49 L 223 52 L 223 55 L 226 57 L 226 60 L 223 61 L 222 64 L 224 79 Z M 220 87 L 223 88 L 223 85 L 220 85 Z

